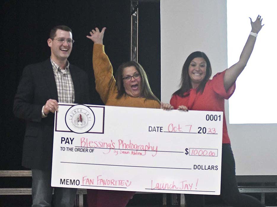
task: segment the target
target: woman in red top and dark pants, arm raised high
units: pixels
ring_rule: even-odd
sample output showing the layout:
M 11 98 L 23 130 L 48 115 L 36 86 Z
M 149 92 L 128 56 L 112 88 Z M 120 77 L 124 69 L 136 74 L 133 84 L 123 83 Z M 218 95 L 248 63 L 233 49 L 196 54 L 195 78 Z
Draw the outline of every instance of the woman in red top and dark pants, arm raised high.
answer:
M 229 206 L 264 206 L 257 199 L 241 194 L 238 190 L 235 173 L 235 160 L 228 136 L 224 99 L 228 99 L 235 90 L 235 82 L 243 71 L 252 53 L 257 33 L 261 30 L 262 19 L 258 15 L 255 22 L 251 20 L 252 30 L 242 50 L 239 61 L 216 74 L 212 80 L 211 64 L 203 52 L 193 52 L 186 59 L 182 69 L 181 87 L 172 95 L 170 104 L 161 103 L 165 110 L 205 110 L 223 111 L 222 166 L 220 196 Z M 186 195 L 188 207 L 204 206 L 203 195 Z

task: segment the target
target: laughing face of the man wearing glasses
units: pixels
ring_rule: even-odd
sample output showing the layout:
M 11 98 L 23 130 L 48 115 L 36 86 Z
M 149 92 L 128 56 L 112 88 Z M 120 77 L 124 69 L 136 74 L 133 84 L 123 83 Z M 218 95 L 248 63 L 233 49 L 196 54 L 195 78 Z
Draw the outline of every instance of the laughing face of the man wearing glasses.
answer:
M 47 40 L 48 46 L 51 48 L 52 60 L 55 63 L 58 63 L 60 61 L 66 61 L 71 53 L 72 43 L 68 44 L 67 41 L 64 41 L 64 43 L 59 43 L 57 38 L 65 38 L 65 40 L 72 40 L 72 33 L 58 29 L 56 31 L 56 35 L 54 38 L 54 40 L 50 38 Z

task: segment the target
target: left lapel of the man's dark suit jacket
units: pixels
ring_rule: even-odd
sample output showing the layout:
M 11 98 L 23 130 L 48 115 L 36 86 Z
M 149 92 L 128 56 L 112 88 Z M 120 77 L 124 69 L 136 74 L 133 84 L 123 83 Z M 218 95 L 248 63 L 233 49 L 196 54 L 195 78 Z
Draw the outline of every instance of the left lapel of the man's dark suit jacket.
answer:
M 42 63 L 42 74 L 45 84 L 47 86 L 47 93 L 49 93 L 51 99 L 58 100 L 57 85 L 55 81 L 55 76 L 53 73 L 53 67 L 50 59 L 47 59 Z

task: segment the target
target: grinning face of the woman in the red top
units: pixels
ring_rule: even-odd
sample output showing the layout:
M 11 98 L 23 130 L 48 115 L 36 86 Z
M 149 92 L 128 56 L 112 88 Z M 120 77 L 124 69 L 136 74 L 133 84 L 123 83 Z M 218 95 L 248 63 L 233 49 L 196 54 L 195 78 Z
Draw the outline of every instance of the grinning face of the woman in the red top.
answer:
M 204 58 L 194 58 L 188 66 L 188 75 L 193 88 L 197 88 L 206 76 L 207 63 Z

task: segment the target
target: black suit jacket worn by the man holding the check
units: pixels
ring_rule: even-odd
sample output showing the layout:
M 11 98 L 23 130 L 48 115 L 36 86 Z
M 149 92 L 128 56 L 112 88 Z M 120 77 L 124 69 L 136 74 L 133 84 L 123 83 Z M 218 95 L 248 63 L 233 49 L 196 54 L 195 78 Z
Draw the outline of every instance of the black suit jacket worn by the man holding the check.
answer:
M 89 104 L 87 74 L 70 64 L 75 103 Z M 26 121 L 22 165 L 31 169 L 51 169 L 54 114 L 41 118 L 42 106 L 48 99 L 58 100 L 57 86 L 50 59 L 28 65 L 23 70 L 15 95 L 15 116 Z

